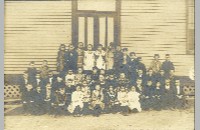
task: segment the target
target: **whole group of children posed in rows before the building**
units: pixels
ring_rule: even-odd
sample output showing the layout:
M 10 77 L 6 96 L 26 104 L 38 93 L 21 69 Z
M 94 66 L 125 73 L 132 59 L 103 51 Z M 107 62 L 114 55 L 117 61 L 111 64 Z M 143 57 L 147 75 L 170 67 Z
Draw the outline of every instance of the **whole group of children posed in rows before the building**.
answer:
M 136 53 L 110 44 L 77 49 L 61 44 L 57 74 L 43 61 L 39 70 L 30 62 L 20 90 L 25 112 L 74 116 L 101 113 L 162 110 L 184 107 L 180 80 L 174 75 L 170 55 L 161 63 L 155 54 L 148 69 Z

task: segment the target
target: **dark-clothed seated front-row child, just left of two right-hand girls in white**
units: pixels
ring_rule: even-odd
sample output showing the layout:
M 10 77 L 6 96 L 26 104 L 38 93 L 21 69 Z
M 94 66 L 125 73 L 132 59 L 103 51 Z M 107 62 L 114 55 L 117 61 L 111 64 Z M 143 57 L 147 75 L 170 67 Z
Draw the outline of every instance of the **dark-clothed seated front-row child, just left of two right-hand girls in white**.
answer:
M 107 113 L 115 113 L 117 112 L 116 101 L 117 100 L 117 93 L 114 91 L 113 86 L 109 86 L 109 91 L 105 94 L 105 109 Z

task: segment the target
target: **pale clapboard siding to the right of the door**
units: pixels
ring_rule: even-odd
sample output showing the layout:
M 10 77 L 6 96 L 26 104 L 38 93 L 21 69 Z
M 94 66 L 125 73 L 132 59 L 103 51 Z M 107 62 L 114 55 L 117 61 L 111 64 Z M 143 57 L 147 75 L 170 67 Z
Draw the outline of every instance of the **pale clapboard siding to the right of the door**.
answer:
M 171 54 L 176 74 L 188 76 L 194 55 L 186 55 L 187 4 L 185 0 L 122 0 L 121 43 L 143 57 Z M 191 8 L 191 7 L 190 7 Z

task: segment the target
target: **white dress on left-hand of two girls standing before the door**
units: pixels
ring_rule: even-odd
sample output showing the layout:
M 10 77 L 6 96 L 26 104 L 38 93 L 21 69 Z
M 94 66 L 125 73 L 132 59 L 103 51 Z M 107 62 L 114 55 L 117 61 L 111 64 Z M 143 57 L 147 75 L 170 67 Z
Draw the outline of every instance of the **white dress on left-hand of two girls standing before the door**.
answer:
M 95 62 L 94 51 L 84 51 L 83 62 L 84 70 L 92 70 Z

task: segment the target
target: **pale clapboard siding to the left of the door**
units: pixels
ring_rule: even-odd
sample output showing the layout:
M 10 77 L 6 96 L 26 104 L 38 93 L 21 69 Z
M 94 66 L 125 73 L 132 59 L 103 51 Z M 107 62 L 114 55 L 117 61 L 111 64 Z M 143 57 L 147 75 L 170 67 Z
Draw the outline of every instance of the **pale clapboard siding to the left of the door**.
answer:
M 55 70 L 61 43 L 71 43 L 71 1 L 5 1 L 5 74 L 44 59 Z

